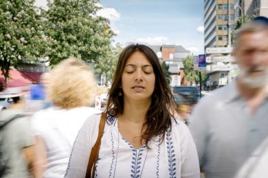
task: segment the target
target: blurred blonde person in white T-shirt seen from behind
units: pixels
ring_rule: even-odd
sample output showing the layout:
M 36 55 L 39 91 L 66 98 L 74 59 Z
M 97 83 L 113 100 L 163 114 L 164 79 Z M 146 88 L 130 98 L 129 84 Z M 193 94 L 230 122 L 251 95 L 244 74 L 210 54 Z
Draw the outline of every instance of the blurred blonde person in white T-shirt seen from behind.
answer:
M 91 68 L 82 61 L 64 60 L 50 72 L 47 97 L 54 106 L 36 112 L 32 119 L 40 177 L 64 177 L 80 127 L 99 112 L 89 107 L 96 88 Z

